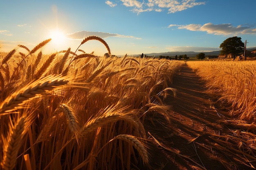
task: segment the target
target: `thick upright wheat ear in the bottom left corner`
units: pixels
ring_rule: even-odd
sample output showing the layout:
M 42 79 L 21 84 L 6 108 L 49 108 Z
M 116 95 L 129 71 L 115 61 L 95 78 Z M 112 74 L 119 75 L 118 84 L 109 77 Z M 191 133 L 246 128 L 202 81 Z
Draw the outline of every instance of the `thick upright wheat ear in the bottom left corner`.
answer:
M 21 117 L 14 128 L 10 130 L 7 141 L 4 142 L 3 159 L 1 161 L 1 166 L 4 170 L 12 170 L 16 166 L 16 157 L 25 134 L 25 124 L 25 117 Z

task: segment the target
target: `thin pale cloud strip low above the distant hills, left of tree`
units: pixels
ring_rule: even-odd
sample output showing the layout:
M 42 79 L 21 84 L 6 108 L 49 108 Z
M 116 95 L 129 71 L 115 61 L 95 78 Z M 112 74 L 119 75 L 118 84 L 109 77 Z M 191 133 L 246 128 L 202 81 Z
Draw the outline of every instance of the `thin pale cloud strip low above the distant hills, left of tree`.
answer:
M 194 51 L 194 52 L 210 52 L 210 51 L 219 51 L 219 48 L 212 47 L 197 47 L 197 46 L 168 46 L 170 52 L 185 52 L 185 51 Z

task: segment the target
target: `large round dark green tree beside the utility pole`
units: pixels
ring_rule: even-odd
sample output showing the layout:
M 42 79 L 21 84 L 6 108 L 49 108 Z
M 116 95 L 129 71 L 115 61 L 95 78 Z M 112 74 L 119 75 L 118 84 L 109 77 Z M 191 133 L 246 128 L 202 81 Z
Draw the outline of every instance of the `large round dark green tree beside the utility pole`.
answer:
M 232 54 L 234 56 L 234 60 L 236 55 L 244 51 L 245 44 L 241 41 L 240 37 L 231 37 L 227 38 L 220 44 L 220 55 L 228 55 Z

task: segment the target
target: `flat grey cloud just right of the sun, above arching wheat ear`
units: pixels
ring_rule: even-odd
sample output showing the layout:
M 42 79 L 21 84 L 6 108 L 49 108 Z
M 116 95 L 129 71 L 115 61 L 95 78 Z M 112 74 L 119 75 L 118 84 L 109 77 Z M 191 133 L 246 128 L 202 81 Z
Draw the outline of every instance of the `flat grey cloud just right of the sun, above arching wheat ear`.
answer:
M 70 39 L 81 40 L 85 37 L 92 36 L 92 35 L 98 36 L 100 38 L 119 37 L 119 38 L 141 39 L 141 38 L 136 38 L 134 36 L 129 36 L 129 35 L 120 35 L 120 34 L 116 34 L 116 33 L 104 33 L 104 32 L 94 32 L 94 31 L 77 31 L 74 33 L 67 34 L 66 36 L 67 36 L 67 38 L 70 38 Z

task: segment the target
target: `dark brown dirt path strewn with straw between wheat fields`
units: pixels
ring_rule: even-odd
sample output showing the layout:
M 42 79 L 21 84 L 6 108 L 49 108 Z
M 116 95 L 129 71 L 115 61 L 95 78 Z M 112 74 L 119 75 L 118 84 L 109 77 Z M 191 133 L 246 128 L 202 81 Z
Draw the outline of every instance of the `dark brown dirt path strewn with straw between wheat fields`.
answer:
M 252 169 L 226 150 L 225 140 L 218 135 L 236 136 L 236 128 L 223 123 L 230 119 L 227 110 L 214 107 L 204 82 L 189 66 L 182 67 L 170 87 L 177 89 L 177 97 L 170 95 L 164 99 L 164 104 L 172 106 L 171 123 L 159 115 L 146 126 L 151 134 L 149 139 L 157 148 L 151 151 L 153 167 L 163 170 Z

